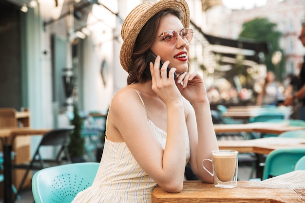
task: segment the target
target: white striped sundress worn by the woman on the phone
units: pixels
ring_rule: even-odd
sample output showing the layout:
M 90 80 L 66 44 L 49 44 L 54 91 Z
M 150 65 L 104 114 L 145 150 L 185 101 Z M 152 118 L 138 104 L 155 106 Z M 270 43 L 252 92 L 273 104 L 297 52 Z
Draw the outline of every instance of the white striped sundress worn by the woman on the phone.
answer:
M 149 123 L 161 146 L 165 148 L 167 133 Z M 187 160 L 190 141 L 186 133 Z M 153 152 L 152 152 L 153 153 Z M 72 203 L 151 203 L 156 183 L 138 165 L 125 142 L 114 143 L 107 138 L 93 185 L 79 192 Z

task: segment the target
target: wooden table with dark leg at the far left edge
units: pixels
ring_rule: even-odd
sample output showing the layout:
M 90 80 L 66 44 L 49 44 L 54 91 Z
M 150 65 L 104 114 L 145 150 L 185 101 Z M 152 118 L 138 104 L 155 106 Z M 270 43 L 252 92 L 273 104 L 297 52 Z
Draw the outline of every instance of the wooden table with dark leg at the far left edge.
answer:
M 21 135 L 42 135 L 51 129 L 30 129 L 30 128 L 11 128 L 0 129 L 0 139 L 3 147 L 3 175 L 4 175 L 4 203 L 13 203 L 12 199 L 12 160 L 11 152 L 16 136 Z

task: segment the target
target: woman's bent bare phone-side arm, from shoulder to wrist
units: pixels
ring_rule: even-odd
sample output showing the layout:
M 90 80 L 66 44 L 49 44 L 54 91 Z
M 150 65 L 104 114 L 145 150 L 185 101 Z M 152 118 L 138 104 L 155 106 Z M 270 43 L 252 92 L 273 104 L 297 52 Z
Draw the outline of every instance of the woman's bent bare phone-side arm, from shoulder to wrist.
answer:
M 117 92 L 112 100 L 111 111 L 108 125 L 113 125 L 122 136 L 137 163 L 166 191 L 180 192 L 186 160 L 187 129 L 183 104 L 172 104 L 165 112 L 168 113 L 165 149 L 156 139 L 145 107 L 134 90 Z M 111 136 L 110 129 L 107 134 Z

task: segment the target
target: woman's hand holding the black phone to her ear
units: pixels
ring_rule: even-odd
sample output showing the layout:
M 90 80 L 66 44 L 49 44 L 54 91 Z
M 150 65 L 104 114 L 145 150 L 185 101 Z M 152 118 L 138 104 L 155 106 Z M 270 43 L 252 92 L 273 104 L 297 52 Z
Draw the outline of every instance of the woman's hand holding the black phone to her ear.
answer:
M 167 77 L 167 67 L 169 61 L 165 61 L 160 69 L 160 56 L 155 59 L 155 63 L 150 63 L 150 71 L 152 74 L 152 90 L 158 97 L 168 106 L 182 102 L 182 96 L 175 85 L 174 72 L 175 68 L 171 68 L 169 77 Z

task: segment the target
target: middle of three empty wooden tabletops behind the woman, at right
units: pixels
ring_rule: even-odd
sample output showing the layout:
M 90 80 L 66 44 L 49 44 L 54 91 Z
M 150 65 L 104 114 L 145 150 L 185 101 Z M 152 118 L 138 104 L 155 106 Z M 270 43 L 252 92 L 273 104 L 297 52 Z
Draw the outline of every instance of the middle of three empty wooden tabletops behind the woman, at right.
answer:
M 229 132 L 261 132 L 270 134 L 281 134 L 289 130 L 305 129 L 300 126 L 289 126 L 288 124 L 255 122 L 247 124 L 214 124 L 216 133 Z

